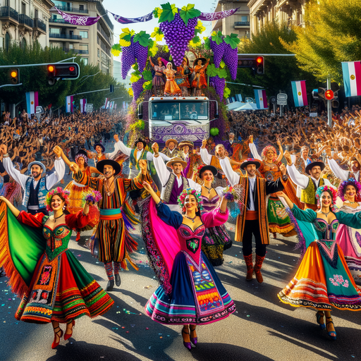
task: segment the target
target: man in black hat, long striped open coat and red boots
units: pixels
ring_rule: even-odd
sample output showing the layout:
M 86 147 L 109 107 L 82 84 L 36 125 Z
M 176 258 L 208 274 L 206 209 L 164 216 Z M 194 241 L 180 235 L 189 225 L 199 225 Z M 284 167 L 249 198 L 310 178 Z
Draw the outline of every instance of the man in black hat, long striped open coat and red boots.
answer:
M 266 256 L 266 245 L 269 245 L 269 226 L 267 218 L 267 195 L 283 190 L 281 178 L 267 181 L 256 176 L 256 170 L 261 165 L 258 159 L 245 159 L 240 166 L 247 176 L 240 176 L 233 171 L 228 158 L 220 159 L 220 164 L 229 183 L 234 188 L 240 188 L 240 202 L 243 208 L 237 217 L 235 240 L 243 242 L 242 252 L 247 266 L 246 280 L 251 281 L 253 272 L 259 283 L 263 282 L 261 268 Z M 283 181 L 287 180 L 286 167 L 280 166 Z M 252 235 L 256 241 L 256 263 L 252 262 Z

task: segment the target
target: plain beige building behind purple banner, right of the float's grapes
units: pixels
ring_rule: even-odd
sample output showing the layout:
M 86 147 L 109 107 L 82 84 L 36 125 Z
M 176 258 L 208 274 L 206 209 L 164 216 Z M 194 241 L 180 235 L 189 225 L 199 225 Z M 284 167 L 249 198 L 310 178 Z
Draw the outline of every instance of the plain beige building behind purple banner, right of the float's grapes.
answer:
M 212 21 L 212 32 L 221 31 L 223 35 L 238 34 L 239 37 L 250 37 L 249 0 L 219 0 L 214 11 L 226 11 L 238 8 L 232 16 Z

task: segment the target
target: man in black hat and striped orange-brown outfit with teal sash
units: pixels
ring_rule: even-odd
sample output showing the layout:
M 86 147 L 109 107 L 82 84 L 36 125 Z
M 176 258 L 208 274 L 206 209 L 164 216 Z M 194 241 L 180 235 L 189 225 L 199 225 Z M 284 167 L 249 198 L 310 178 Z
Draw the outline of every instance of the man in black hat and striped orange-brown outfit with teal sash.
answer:
M 121 166 L 114 160 L 104 159 L 97 163 L 97 170 L 102 172 L 105 179 L 93 178 L 80 171 L 78 164 L 72 164 L 75 182 L 87 185 L 102 194 L 99 201 L 100 221 L 95 237 L 99 239 L 99 261 L 104 263 L 109 282 L 106 290 L 113 290 L 114 277 L 116 286 L 121 285 L 119 269 L 127 269 L 127 260 L 136 268 L 129 252 L 137 250 L 137 243 L 124 226 L 121 208 L 126 201 L 127 192 L 143 188 L 143 181 L 150 181 L 147 173 L 147 161 L 139 161 L 140 174 L 134 179 L 115 178 L 121 171 Z

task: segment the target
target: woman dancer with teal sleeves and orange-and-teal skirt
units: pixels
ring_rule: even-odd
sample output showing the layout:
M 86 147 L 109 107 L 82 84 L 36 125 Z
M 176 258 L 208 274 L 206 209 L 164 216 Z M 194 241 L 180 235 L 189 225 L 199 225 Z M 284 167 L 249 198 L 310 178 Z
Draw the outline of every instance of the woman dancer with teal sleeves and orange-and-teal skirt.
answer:
M 283 192 L 277 195 L 289 207 L 290 218 L 298 231 L 301 256 L 304 255 L 295 276 L 278 294 L 279 299 L 291 306 L 316 309 L 320 328 L 327 329 L 336 340 L 331 308 L 361 311 L 361 288 L 353 280 L 336 243 L 336 231 L 343 224 L 361 228 L 361 213 L 335 212 L 336 188 L 329 185 L 316 191 L 317 212 L 302 211 Z

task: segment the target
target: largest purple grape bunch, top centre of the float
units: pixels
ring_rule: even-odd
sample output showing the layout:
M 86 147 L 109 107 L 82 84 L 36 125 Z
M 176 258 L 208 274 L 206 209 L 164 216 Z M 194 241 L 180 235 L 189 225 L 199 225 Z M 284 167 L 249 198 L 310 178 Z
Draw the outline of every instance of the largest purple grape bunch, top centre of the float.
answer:
M 188 43 L 195 36 L 195 27 L 197 26 L 198 18 L 188 20 L 188 25 L 185 25 L 183 19 L 178 13 L 174 16 L 171 22 L 164 21 L 159 24 L 161 32 L 164 34 L 166 44 L 171 51 L 171 56 L 175 66 L 180 66 L 185 54 L 185 49 Z

